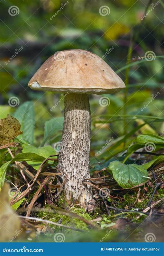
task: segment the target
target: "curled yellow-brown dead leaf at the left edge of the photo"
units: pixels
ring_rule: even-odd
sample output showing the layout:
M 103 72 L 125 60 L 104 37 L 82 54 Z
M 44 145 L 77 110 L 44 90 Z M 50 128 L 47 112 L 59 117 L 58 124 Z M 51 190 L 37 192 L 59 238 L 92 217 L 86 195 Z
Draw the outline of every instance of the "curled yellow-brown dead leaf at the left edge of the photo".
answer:
M 0 119 L 0 145 L 5 145 L 22 134 L 20 127 L 19 121 L 9 114 L 6 118 Z

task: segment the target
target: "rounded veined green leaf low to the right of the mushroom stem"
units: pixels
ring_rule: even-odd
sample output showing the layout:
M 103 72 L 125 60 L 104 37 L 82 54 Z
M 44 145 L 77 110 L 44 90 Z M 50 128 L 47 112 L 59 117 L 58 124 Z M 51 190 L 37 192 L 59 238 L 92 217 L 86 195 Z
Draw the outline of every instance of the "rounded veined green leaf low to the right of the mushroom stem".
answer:
M 122 188 L 131 188 L 146 182 L 147 170 L 142 165 L 123 164 L 119 161 L 113 161 L 109 164 L 109 169 L 112 171 L 113 178 Z

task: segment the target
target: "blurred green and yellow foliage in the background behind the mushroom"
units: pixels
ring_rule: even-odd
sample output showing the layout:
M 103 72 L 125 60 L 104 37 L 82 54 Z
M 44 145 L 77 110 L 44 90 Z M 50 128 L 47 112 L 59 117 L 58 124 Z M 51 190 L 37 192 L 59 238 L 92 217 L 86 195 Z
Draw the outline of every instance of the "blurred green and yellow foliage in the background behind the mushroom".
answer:
M 111 142 L 97 159 L 95 154 L 107 140 L 114 138 L 116 142 L 141 125 L 145 116 L 162 117 L 162 0 L 2 0 L 0 6 L 0 118 L 18 108 L 9 105 L 10 97 L 18 97 L 19 105 L 32 101 L 36 146 L 43 140 L 45 121 L 63 116 L 64 101 L 61 100 L 51 111 L 61 94 L 35 92 L 27 84 L 42 63 L 56 51 L 85 49 L 94 52 L 126 83 L 126 89 L 117 94 L 90 95 L 91 155 L 94 161 L 124 150 L 123 142 L 109 150 Z M 149 51 L 155 56 L 153 60 L 139 58 Z M 137 61 L 132 62 L 131 58 Z M 130 64 L 129 68 L 126 68 L 127 64 Z M 99 104 L 102 96 L 110 100 L 106 107 Z M 151 103 L 144 108 L 149 101 Z M 147 125 L 136 129 L 132 135 L 162 134 L 163 127 L 162 122 L 152 123 L 148 119 Z M 60 138 L 61 133 L 57 133 L 51 143 L 60 141 Z

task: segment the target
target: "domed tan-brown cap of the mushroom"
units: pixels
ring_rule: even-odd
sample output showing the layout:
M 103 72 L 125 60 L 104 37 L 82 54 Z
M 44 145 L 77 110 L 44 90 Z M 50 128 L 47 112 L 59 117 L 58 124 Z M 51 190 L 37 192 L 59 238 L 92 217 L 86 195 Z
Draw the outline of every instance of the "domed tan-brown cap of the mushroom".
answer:
M 28 83 L 31 89 L 69 93 L 116 93 L 121 78 L 99 56 L 85 50 L 56 52 Z

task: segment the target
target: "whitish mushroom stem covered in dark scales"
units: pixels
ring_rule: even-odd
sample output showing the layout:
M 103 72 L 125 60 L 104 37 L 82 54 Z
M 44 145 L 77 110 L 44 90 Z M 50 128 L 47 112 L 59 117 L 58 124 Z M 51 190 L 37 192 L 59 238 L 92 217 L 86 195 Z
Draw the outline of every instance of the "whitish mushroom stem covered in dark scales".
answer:
M 90 178 L 91 114 L 88 94 L 70 93 L 65 97 L 64 126 L 58 169 L 67 174 L 64 192 L 69 203 L 84 204 L 92 199 Z M 64 180 L 63 175 L 62 179 Z

